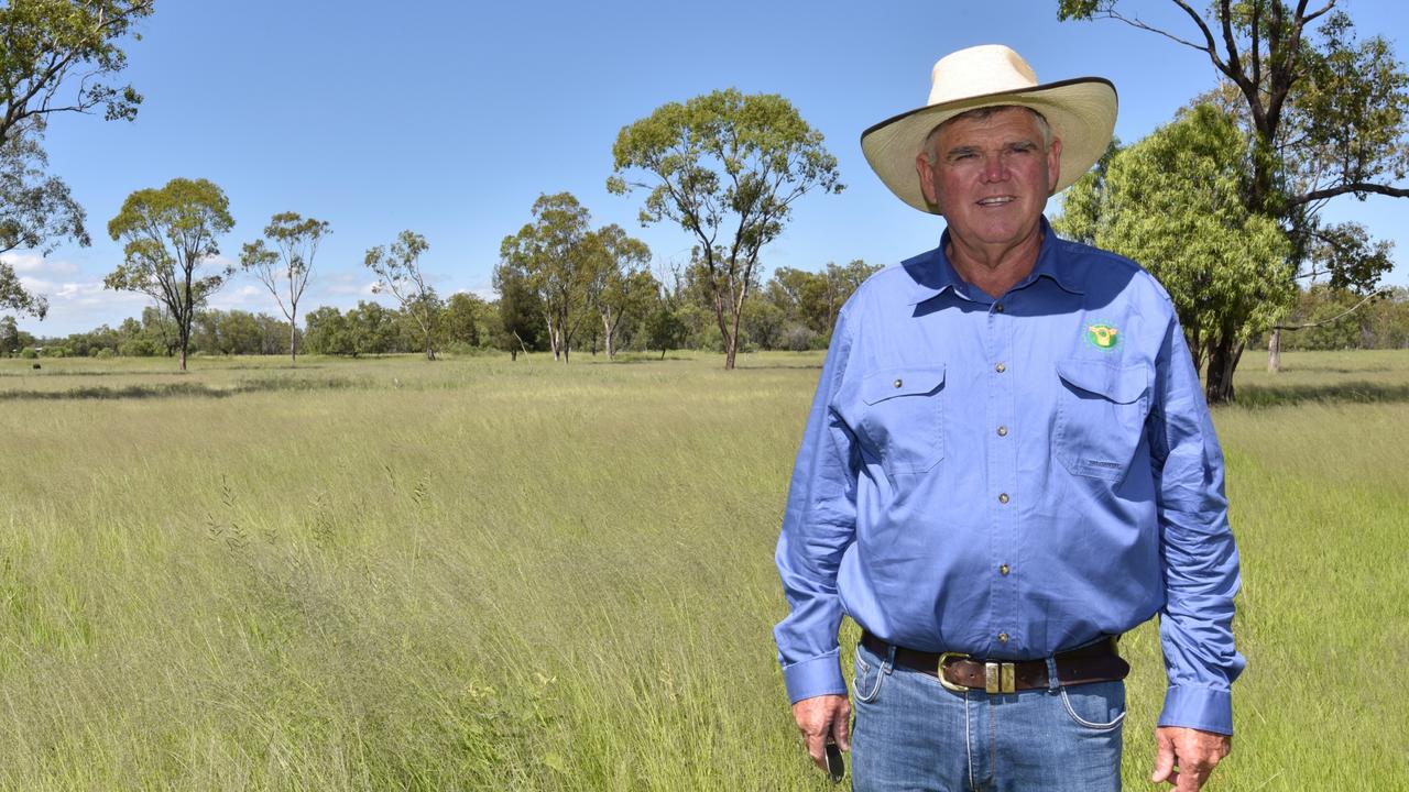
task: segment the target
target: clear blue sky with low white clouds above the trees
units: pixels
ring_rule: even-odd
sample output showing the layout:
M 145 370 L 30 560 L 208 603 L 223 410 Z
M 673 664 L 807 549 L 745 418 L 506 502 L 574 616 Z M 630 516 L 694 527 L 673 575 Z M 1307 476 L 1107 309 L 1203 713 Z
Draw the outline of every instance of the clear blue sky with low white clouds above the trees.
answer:
M 1130 3 L 1188 30 L 1168 3 Z M 1361 35 L 1409 58 L 1409 4 L 1343 0 Z M 123 79 L 145 96 L 134 123 L 52 120 L 54 173 L 87 210 L 93 245 L 46 259 L 6 255 L 48 295 L 49 317 L 20 327 L 63 335 L 135 316 L 145 297 L 106 292 L 121 261 L 107 221 L 135 189 L 206 178 L 230 196 L 238 256 L 278 211 L 327 220 L 303 309 L 373 299 L 365 251 L 403 228 L 424 234 L 423 266 L 442 295 L 489 293 L 499 242 L 540 193 L 572 192 L 595 224 L 617 223 L 658 264 L 683 262 L 676 227 L 641 228 L 640 196 L 613 196 L 617 131 L 665 101 L 719 87 L 781 93 L 826 135 L 847 189 L 812 194 L 764 264 L 893 264 L 934 247 L 943 221 L 890 196 L 867 168 L 862 130 L 924 103 L 934 61 L 1007 44 L 1044 82 L 1103 76 L 1120 93 L 1116 134 L 1136 141 L 1215 83 L 1206 56 L 1120 23 L 1058 23 L 1055 0 L 476 3 L 158 0 L 128 45 Z M 1048 204 L 1048 213 L 1057 209 Z M 1350 197 L 1327 214 L 1395 240 L 1388 282 L 1409 285 L 1409 202 Z M 252 278 L 211 299 L 278 316 Z M 303 311 L 300 311 L 303 313 Z

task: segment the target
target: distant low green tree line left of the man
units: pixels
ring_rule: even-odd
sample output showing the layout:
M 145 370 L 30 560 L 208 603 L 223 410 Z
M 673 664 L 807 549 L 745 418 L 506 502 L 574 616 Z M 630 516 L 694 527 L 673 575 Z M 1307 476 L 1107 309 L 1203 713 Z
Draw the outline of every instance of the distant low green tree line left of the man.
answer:
M 864 261 L 827 264 L 819 272 L 779 268 L 768 282 L 755 285 L 757 300 L 744 306 L 740 349 L 823 349 L 831 338 L 837 311 L 871 273 L 881 269 Z M 304 327 L 292 333 L 289 321 L 266 313 L 201 309 L 190 327 L 192 355 L 278 355 L 289 352 L 290 333 L 297 347 L 316 355 L 386 355 L 426 351 L 452 354 L 552 352 L 540 297 L 526 279 L 506 269 L 500 296 L 485 300 L 461 292 L 447 300 L 421 297 L 410 309 L 364 300 L 341 310 L 323 306 L 307 311 Z M 592 321 L 582 321 L 572 337 L 572 351 L 589 355 L 613 351 L 659 352 L 672 349 L 723 351 L 724 338 L 712 306 L 710 290 L 699 268 L 669 272 L 662 279 L 633 269 L 613 286 L 628 299 L 610 304 L 588 299 Z M 420 314 L 411 313 L 421 311 Z M 428 318 L 427 318 L 428 317 Z M 562 349 L 564 352 L 566 349 Z M 35 337 L 21 331 L 13 317 L 0 317 L 3 357 L 178 357 L 180 328 L 159 307 L 116 328 L 97 327 L 66 337 Z

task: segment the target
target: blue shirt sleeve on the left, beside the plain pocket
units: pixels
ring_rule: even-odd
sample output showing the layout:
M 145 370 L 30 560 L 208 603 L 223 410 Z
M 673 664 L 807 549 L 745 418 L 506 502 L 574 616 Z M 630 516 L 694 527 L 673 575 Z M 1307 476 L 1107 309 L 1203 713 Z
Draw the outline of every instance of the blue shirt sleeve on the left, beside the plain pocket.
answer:
M 837 647 L 841 600 L 837 569 L 855 538 L 859 451 L 831 409 L 851 352 L 845 311 L 837 318 L 827 361 L 793 465 L 778 538 L 778 574 L 789 614 L 774 630 L 788 699 L 845 695 Z

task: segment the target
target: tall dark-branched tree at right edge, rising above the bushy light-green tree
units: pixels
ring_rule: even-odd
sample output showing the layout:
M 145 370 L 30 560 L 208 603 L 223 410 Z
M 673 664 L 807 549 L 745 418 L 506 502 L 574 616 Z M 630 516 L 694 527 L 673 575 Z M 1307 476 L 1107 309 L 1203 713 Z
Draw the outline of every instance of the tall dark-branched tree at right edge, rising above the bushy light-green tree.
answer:
M 1391 42 L 1357 39 L 1337 0 L 1315 8 L 1308 0 L 1215 0 L 1206 13 L 1169 1 L 1185 30 L 1129 16 L 1130 4 L 1119 0 L 1058 0 L 1058 17 L 1117 20 L 1205 54 L 1224 80 L 1206 99 L 1247 132 L 1243 204 L 1288 235 L 1291 278 L 1372 290 L 1392 266 L 1389 245 L 1361 224 L 1327 223 L 1320 211 L 1340 196 L 1409 197 L 1409 75 Z M 1272 357 L 1278 338 L 1274 328 Z M 1241 347 L 1230 344 L 1212 351 L 1216 368 L 1237 366 Z M 1215 402 L 1231 395 L 1231 379 L 1209 390 Z

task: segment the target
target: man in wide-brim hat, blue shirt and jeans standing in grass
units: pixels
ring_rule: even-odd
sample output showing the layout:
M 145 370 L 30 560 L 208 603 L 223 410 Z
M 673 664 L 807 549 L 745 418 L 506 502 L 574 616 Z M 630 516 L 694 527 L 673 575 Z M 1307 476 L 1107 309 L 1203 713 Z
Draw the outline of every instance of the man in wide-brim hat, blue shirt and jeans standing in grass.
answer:
M 841 616 L 864 630 L 855 789 L 1119 789 L 1116 638 L 1157 613 L 1153 781 L 1196 791 L 1229 751 L 1237 551 L 1198 373 L 1164 289 L 1043 217 L 1115 117 L 1109 82 L 1038 85 L 991 45 L 862 135 L 947 230 L 843 309 L 778 543 L 819 764 L 848 747 Z

